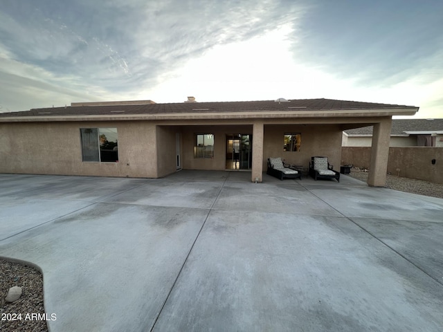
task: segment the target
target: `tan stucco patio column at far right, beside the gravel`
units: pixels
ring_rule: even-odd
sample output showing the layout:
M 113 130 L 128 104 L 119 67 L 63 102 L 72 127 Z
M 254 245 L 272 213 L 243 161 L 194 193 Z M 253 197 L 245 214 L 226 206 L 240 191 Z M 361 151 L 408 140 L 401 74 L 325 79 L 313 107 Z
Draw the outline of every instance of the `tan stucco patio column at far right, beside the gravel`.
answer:
M 384 187 L 386 185 L 391 126 L 391 117 L 384 118 L 381 122 L 374 124 L 368 176 L 368 185 L 370 187 Z

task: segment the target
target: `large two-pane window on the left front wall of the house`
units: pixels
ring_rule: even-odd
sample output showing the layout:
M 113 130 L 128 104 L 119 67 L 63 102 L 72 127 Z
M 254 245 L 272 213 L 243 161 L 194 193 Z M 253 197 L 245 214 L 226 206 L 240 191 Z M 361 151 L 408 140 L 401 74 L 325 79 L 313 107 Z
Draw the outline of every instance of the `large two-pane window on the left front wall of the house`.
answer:
M 80 128 L 82 160 L 118 163 L 116 128 Z

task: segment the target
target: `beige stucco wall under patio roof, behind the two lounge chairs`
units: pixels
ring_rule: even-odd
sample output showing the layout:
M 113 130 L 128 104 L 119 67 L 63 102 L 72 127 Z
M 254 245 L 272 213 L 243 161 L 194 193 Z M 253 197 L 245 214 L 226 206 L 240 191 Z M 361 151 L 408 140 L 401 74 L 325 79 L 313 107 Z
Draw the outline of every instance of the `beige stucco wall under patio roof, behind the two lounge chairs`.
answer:
M 300 151 L 283 151 L 284 133 L 301 133 Z M 334 169 L 340 169 L 342 132 L 338 124 L 282 124 L 264 126 L 263 169 L 269 157 L 309 167 L 312 156 L 326 156 Z

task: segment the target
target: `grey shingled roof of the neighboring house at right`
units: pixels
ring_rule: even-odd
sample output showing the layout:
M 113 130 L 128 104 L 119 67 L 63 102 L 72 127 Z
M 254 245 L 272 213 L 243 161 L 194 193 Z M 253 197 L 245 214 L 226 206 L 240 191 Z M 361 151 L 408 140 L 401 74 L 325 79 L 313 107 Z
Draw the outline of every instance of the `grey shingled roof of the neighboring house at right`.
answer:
M 347 136 L 372 136 L 372 126 L 345 130 Z M 391 136 L 409 136 L 443 131 L 443 119 L 393 119 Z

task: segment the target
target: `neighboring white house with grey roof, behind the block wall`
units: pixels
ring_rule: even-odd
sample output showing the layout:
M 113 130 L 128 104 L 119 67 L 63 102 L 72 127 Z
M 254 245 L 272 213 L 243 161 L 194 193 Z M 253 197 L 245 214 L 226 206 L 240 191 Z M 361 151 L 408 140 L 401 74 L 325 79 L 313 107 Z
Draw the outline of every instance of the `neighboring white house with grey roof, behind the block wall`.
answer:
M 372 127 L 343 131 L 343 147 L 370 147 Z M 393 119 L 390 147 L 443 147 L 443 119 Z

